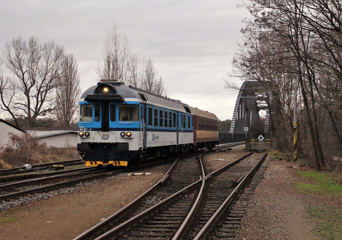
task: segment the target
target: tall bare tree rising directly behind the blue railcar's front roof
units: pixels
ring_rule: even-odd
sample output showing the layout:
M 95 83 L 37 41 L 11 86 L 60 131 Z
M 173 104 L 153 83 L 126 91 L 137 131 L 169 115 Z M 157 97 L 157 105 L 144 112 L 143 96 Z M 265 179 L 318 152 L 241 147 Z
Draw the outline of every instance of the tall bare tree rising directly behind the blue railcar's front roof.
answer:
M 114 22 L 103 44 L 102 61 L 95 68 L 97 76 L 125 81 L 129 52 L 127 36 L 121 34 Z

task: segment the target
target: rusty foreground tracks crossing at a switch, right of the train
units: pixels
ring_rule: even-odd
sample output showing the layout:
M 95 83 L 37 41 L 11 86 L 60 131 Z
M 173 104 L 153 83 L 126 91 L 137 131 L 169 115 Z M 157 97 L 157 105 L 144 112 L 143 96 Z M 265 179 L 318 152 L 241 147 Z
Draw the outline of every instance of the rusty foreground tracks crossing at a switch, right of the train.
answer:
M 201 160 L 196 166 L 194 163 L 190 164 L 192 171 L 187 169 L 191 160 L 188 159 L 187 162 L 182 160 L 182 163 L 186 163 L 187 166 L 185 174 L 182 173 L 184 166 L 177 166 L 179 163 L 174 163 L 176 167 L 173 172 L 170 168 L 155 186 L 74 240 L 181 239 L 183 236 L 186 236 L 185 239 L 192 239 L 205 226 L 205 221 L 208 221 L 212 213 L 224 202 L 225 197 L 233 192 L 232 186 L 245 182 L 244 179 L 248 179 L 247 176 L 250 175 L 248 172 L 255 166 L 255 163 L 263 161 L 264 157 L 261 160 L 252 158 L 241 161 L 251 154 L 208 175 L 205 173 Z M 195 174 L 195 168 L 198 168 L 198 175 Z M 229 168 L 232 170 L 227 170 Z M 180 178 L 177 173 L 184 175 Z M 177 183 L 177 186 L 184 186 L 184 188 L 173 187 L 176 182 L 181 182 L 182 184 Z M 184 183 L 188 185 L 185 186 Z M 214 188 L 211 185 L 217 187 Z M 178 191 L 174 192 L 175 190 Z M 217 196 L 210 196 L 216 194 Z M 192 221 L 196 219 L 195 216 L 201 216 L 203 221 L 201 223 Z

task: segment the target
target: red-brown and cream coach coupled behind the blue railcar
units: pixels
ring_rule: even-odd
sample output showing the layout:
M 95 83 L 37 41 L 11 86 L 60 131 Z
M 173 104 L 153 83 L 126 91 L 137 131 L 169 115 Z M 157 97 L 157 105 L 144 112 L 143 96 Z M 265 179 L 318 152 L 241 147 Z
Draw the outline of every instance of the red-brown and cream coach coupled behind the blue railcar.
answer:
M 212 150 L 219 144 L 219 119 L 211 112 L 190 107 L 193 114 L 194 145 L 200 149 Z

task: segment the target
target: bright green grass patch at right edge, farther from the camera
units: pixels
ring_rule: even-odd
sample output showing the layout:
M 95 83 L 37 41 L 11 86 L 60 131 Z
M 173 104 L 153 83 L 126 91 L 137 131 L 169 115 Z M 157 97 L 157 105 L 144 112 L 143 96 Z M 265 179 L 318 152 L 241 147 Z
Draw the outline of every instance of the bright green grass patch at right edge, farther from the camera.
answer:
M 314 181 L 312 184 L 297 183 L 297 188 L 307 194 L 325 194 L 328 196 L 342 197 L 342 185 L 336 183 L 337 177 L 326 172 L 297 172 L 298 175 L 309 177 Z

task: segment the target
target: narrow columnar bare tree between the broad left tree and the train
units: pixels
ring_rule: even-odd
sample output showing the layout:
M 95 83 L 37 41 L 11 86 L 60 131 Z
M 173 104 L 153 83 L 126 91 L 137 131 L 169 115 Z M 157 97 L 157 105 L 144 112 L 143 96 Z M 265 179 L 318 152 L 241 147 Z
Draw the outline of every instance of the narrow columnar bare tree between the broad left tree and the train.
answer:
M 75 122 L 81 94 L 78 64 L 73 54 L 64 56 L 62 75 L 56 89 L 56 116 L 62 126 Z

